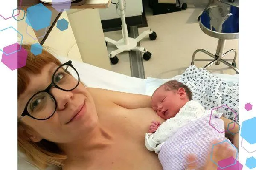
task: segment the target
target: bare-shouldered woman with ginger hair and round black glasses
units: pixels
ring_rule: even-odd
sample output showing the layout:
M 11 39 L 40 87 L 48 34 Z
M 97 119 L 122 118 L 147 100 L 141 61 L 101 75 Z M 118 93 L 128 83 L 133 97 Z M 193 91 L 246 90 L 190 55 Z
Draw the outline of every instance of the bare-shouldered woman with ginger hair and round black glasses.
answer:
M 71 62 L 49 52 L 18 69 L 18 146 L 33 164 L 63 170 L 161 170 L 144 146 L 151 97 L 87 88 Z M 72 76 L 70 75 L 72 73 Z M 75 77 L 75 78 L 74 78 Z

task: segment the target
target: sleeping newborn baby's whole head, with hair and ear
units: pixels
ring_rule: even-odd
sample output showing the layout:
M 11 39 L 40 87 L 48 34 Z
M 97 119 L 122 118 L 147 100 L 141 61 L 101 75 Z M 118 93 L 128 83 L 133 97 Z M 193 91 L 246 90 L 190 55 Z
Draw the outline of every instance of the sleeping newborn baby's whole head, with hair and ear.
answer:
M 167 120 L 174 117 L 191 99 L 192 92 L 186 85 L 171 80 L 154 91 L 151 105 L 160 117 Z

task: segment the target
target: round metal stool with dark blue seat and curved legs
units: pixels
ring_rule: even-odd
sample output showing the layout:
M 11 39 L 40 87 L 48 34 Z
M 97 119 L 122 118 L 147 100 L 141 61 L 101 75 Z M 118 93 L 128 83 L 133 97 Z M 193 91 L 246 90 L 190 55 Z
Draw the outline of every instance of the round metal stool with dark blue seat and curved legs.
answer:
M 235 49 L 231 49 L 224 53 L 224 46 L 226 40 L 237 39 L 238 38 L 238 7 L 236 6 L 217 6 L 209 8 L 204 11 L 201 15 L 200 24 L 201 30 L 214 38 L 218 38 L 218 45 L 215 55 L 209 53 L 204 49 L 198 49 L 193 53 L 192 62 L 195 61 L 211 61 L 209 64 L 204 66 L 204 69 L 208 68 L 212 64 L 219 65 L 220 62 L 233 68 L 238 74 L 238 69 L 236 68 L 236 57 L 237 52 Z M 212 59 L 195 59 L 195 54 L 199 51 L 209 55 Z M 235 53 L 234 59 L 226 59 L 226 57 L 231 52 Z M 232 64 L 227 61 L 233 61 Z

